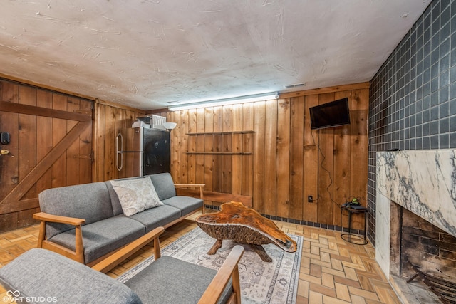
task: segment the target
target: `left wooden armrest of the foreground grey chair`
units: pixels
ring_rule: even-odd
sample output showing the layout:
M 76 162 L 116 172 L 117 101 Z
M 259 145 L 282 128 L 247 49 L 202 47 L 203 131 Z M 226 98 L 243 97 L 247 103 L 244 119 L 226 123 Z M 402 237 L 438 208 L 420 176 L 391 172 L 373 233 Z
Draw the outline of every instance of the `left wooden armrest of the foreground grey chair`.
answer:
M 92 266 L 92 269 L 95 269 L 95 271 L 100 271 L 102 273 L 107 273 L 112 268 L 117 266 L 118 263 L 124 261 L 125 258 L 132 256 L 133 253 L 140 250 L 140 248 L 144 247 L 152 240 L 154 241 L 155 260 L 157 260 L 161 256 L 159 236 L 163 233 L 163 231 L 165 231 L 163 227 L 157 227 L 153 229 L 149 233 L 141 236 L 139 239 L 136 239 L 135 241 L 129 243 L 127 246 L 121 248 L 119 251 L 116 251 L 112 255 L 108 256 L 103 261 L 96 263 L 94 266 Z

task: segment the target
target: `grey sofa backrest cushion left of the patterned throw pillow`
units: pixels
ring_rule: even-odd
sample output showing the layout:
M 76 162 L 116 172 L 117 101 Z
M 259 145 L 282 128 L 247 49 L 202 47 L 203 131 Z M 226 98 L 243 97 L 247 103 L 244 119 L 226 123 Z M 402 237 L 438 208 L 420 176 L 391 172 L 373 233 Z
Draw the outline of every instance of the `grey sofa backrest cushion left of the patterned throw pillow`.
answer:
M 38 199 L 41 211 L 85 219 L 84 224 L 114 216 L 108 188 L 103 182 L 46 189 L 38 194 Z M 46 236 L 50 239 L 73 228 L 67 224 L 48 224 Z

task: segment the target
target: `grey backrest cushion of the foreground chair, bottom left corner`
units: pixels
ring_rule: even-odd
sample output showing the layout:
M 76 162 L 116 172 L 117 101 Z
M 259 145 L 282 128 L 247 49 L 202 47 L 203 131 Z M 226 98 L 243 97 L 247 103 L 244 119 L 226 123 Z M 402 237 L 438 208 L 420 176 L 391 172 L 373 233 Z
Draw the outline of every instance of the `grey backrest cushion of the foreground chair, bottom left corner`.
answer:
M 31 302 L 42 302 L 38 299 L 42 297 L 53 303 L 141 303 L 138 295 L 119 281 L 38 248 L 26 251 L 0 268 L 0 283 Z

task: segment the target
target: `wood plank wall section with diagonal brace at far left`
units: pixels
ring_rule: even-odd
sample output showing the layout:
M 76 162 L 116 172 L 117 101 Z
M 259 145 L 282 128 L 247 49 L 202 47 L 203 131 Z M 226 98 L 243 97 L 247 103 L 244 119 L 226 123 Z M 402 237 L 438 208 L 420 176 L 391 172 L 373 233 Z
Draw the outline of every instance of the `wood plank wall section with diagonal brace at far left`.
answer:
M 44 189 L 92 181 L 92 104 L 0 80 L 0 231 L 33 224 Z

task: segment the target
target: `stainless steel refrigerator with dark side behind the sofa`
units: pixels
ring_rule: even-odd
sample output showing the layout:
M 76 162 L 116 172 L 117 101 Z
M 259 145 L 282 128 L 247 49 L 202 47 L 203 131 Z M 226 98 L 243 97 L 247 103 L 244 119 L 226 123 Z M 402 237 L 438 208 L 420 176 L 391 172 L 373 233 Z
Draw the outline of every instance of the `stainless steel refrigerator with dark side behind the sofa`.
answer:
M 135 127 L 116 137 L 119 177 L 138 177 L 170 172 L 170 132 Z

